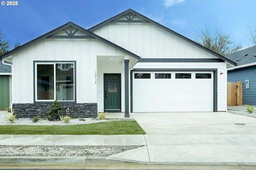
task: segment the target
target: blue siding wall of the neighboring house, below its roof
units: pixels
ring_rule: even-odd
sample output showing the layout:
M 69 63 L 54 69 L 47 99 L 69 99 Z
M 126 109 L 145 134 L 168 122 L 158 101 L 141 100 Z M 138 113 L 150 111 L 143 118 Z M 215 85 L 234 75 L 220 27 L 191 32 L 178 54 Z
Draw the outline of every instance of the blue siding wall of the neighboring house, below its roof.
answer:
M 243 82 L 243 104 L 256 105 L 256 66 L 248 66 L 228 70 L 228 82 Z M 250 80 L 250 88 L 246 89 L 245 80 Z

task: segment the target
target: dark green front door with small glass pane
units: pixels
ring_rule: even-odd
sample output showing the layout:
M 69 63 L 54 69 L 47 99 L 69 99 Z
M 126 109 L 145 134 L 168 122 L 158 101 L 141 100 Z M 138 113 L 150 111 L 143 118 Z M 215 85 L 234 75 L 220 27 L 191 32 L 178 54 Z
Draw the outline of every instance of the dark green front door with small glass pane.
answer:
M 104 74 L 104 111 L 121 112 L 121 74 Z

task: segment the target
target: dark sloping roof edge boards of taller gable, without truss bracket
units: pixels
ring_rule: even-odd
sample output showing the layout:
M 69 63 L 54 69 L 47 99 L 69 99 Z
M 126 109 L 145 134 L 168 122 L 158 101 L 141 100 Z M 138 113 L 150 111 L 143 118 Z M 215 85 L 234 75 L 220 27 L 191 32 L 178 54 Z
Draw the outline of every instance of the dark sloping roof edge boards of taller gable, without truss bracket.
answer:
M 122 17 L 122 16 L 124 16 L 124 15 L 126 15 L 128 13 L 132 13 L 132 14 L 142 18 L 143 20 L 148 21 L 148 22 L 150 22 L 150 23 L 152 23 L 152 24 L 154 24 L 154 25 L 164 29 L 165 31 L 168 31 L 168 32 L 176 35 L 177 37 L 179 37 L 181 39 L 184 39 L 185 41 L 188 41 L 189 43 L 195 45 L 196 47 L 199 47 L 200 49 L 203 49 L 204 51 L 207 51 L 208 53 L 211 53 L 212 55 L 214 55 L 216 57 L 219 57 L 220 59 L 222 59 L 222 60 L 224 60 L 224 61 L 226 61 L 226 62 L 228 62 L 228 63 L 230 63 L 232 65 L 236 65 L 236 62 L 231 61 L 230 59 L 227 59 L 226 57 L 223 57 L 222 55 L 219 55 L 218 53 L 215 53 L 214 51 L 212 51 L 210 49 L 207 49 L 206 47 L 196 43 L 195 41 L 192 41 L 191 39 L 188 39 L 187 37 L 184 37 L 183 35 L 180 35 L 179 33 L 176 33 L 175 31 L 165 27 L 164 25 L 161 25 L 160 23 L 157 23 L 156 21 L 153 21 L 153 20 L 151 20 L 151 19 L 149 19 L 149 18 L 139 14 L 138 12 L 135 12 L 132 9 L 128 9 L 128 10 L 126 10 L 126 11 L 124 11 L 124 12 L 122 12 L 122 13 L 120 13 L 120 14 L 118 14 L 118 15 L 116 15 L 116 16 L 108 19 L 108 20 L 106 20 L 106 21 L 103 21 L 102 23 L 99 23 L 98 25 L 95 25 L 94 27 L 91 27 L 88 30 L 89 31 L 93 31 L 94 29 L 97 29 L 98 27 L 101 27 L 102 25 L 105 25 L 105 24 L 107 24 L 109 22 L 112 22 L 112 21 L 114 21 L 114 20 L 116 20 L 116 19 L 118 19 L 118 18 L 120 18 L 120 17 Z

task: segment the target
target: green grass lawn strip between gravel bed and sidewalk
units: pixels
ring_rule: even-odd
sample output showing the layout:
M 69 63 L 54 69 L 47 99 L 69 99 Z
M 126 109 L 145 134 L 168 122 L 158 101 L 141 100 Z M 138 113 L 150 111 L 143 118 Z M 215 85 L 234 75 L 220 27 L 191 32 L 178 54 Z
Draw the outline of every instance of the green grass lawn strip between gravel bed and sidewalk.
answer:
M 146 134 L 136 121 L 110 121 L 83 125 L 0 125 L 9 135 L 140 135 Z

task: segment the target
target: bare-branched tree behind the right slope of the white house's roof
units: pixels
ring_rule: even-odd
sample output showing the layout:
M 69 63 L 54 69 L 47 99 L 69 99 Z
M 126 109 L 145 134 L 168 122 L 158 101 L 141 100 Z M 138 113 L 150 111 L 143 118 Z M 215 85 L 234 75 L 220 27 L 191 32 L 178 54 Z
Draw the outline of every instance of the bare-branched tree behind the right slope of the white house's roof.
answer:
M 234 42 L 230 40 L 230 35 L 225 34 L 218 27 L 214 31 L 210 28 L 202 29 L 201 33 L 196 33 L 195 41 L 222 56 L 234 53 L 242 48 L 241 45 L 234 45 Z

